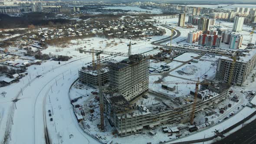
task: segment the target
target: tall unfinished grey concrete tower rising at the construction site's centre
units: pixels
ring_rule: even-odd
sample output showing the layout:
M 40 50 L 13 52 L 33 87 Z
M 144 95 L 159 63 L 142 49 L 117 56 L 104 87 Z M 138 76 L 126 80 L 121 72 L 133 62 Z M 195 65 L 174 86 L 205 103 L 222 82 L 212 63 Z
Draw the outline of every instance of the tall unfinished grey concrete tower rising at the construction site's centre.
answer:
M 132 55 L 109 66 L 110 86 L 128 101 L 148 91 L 149 60 Z

